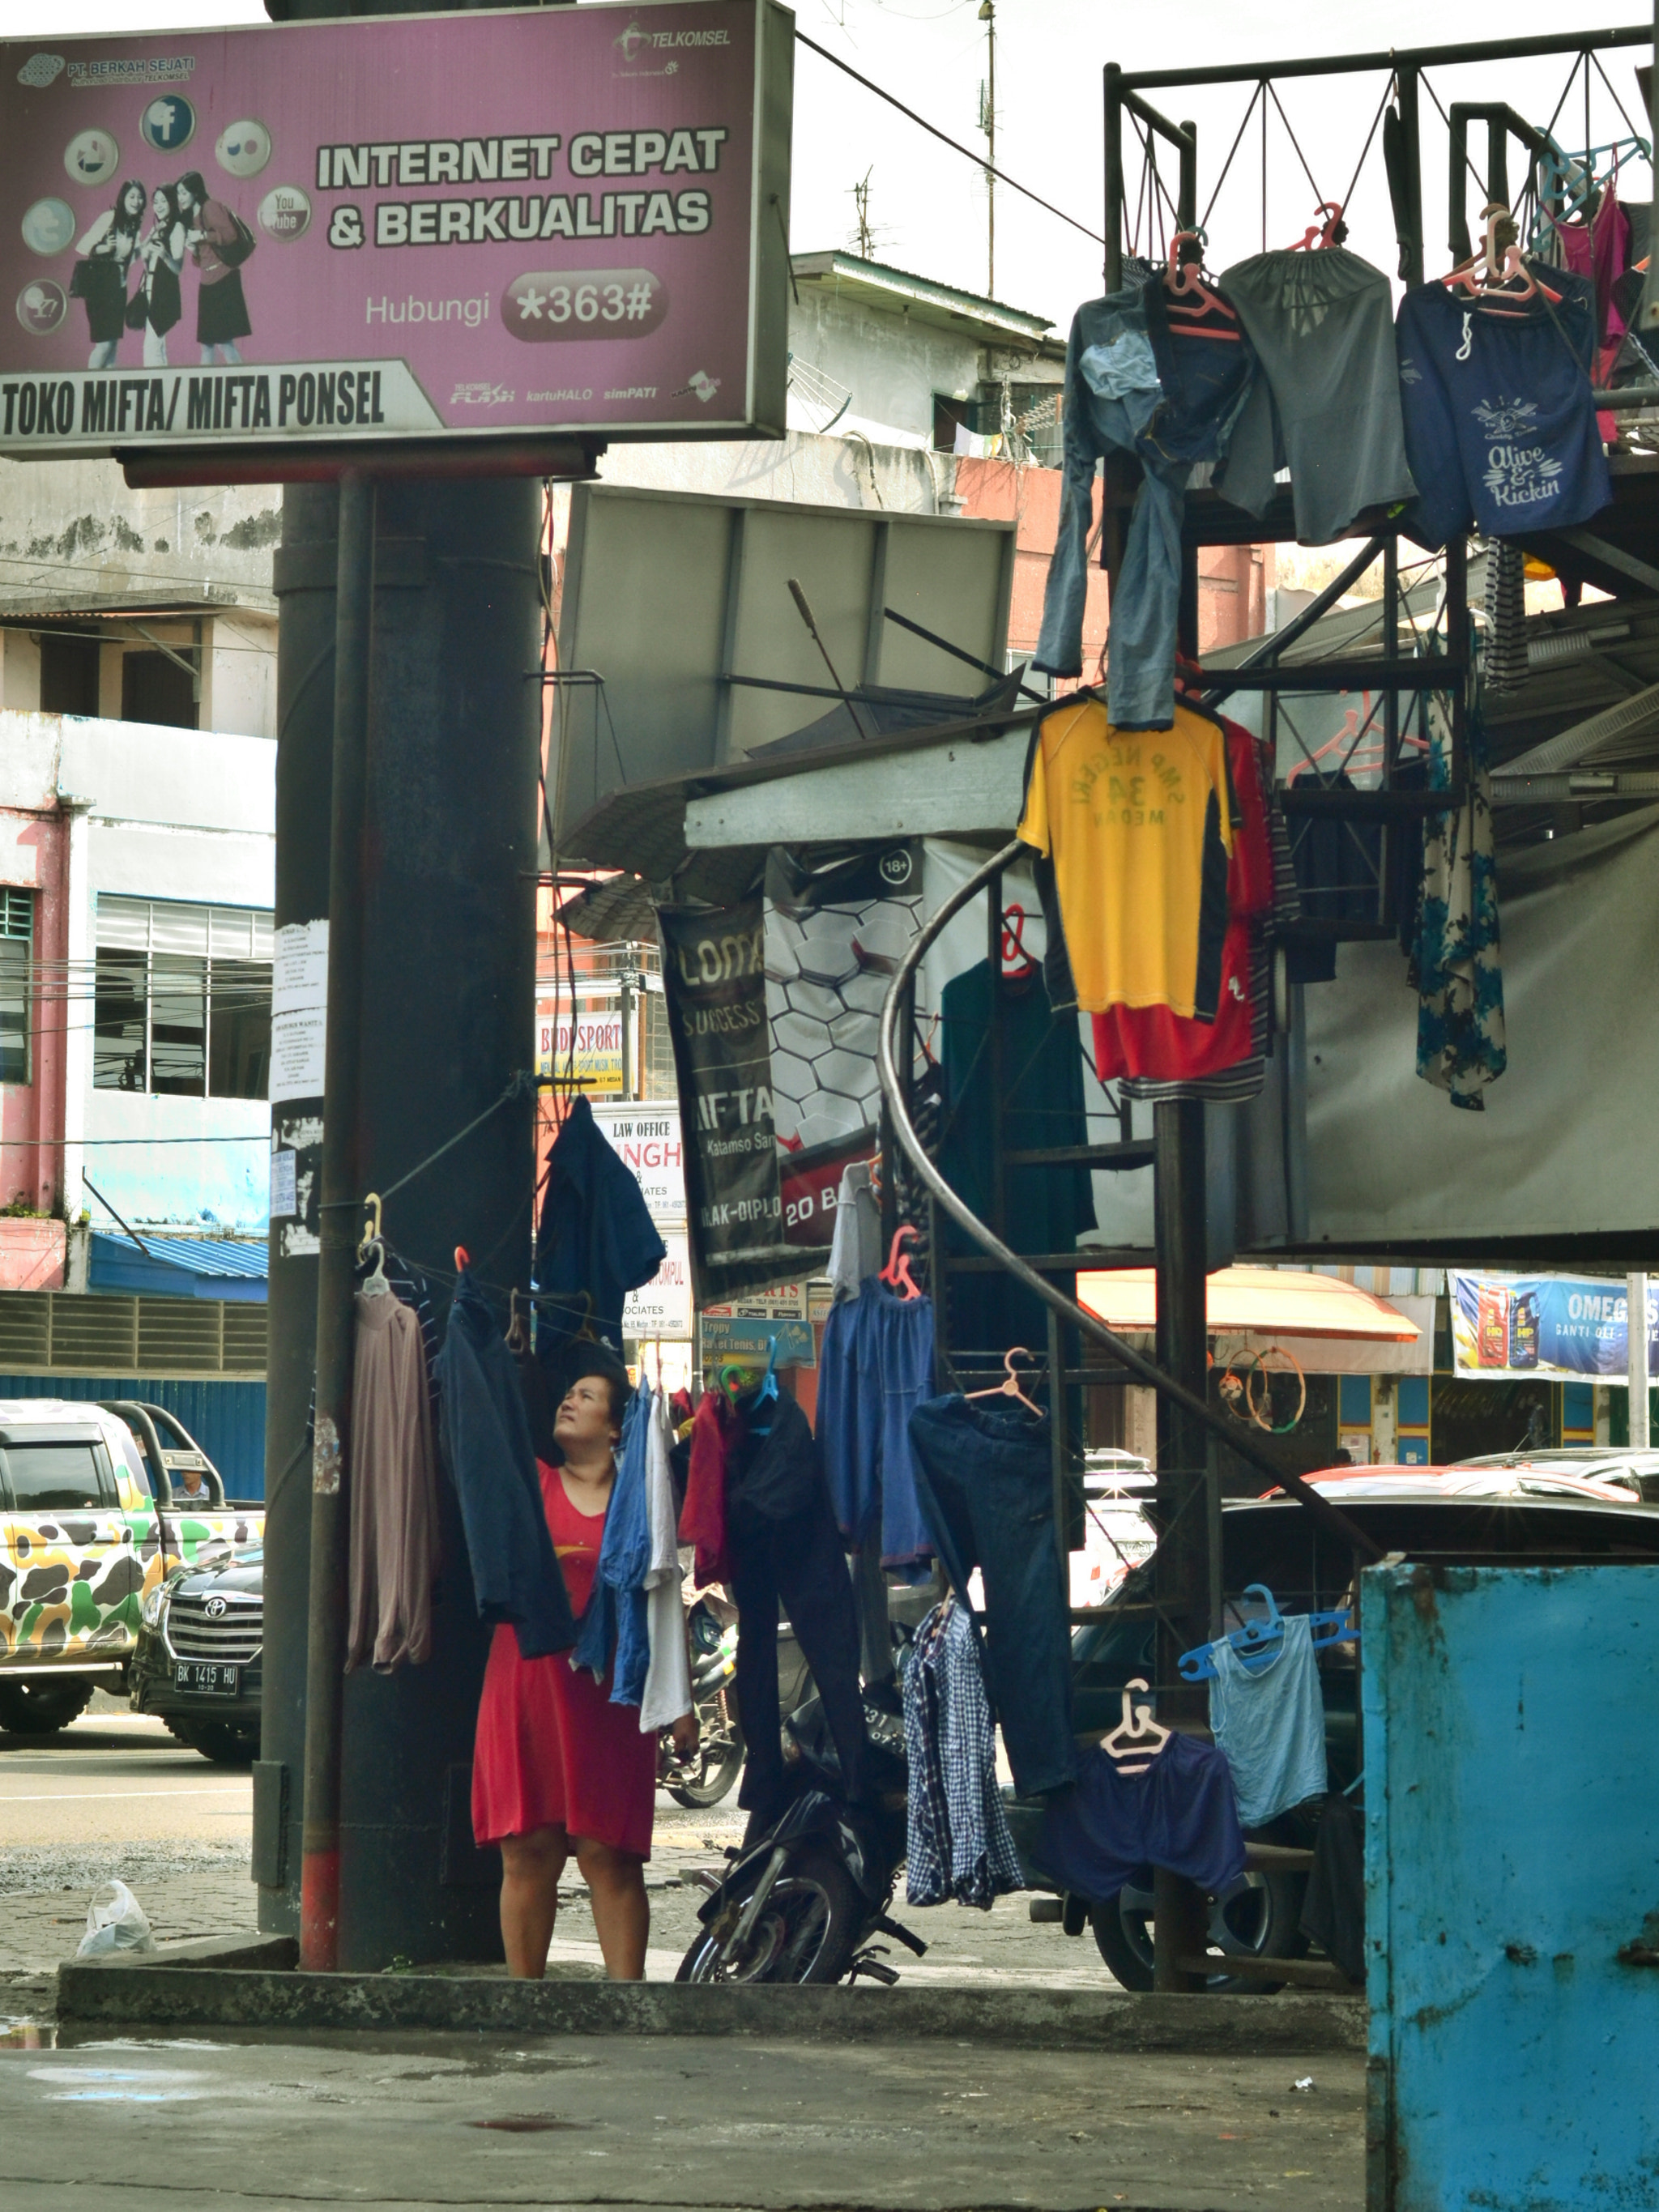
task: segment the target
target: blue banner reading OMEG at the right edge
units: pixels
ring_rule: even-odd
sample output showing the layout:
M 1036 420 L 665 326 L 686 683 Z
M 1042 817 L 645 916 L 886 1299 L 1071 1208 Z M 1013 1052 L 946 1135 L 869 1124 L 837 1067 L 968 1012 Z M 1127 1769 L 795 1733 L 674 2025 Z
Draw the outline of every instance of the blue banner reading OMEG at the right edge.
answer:
M 1458 1374 L 1628 1376 L 1624 1283 L 1575 1274 L 1467 1274 L 1451 1270 L 1451 1343 Z M 1659 1298 L 1648 1292 L 1648 1374 L 1659 1376 Z

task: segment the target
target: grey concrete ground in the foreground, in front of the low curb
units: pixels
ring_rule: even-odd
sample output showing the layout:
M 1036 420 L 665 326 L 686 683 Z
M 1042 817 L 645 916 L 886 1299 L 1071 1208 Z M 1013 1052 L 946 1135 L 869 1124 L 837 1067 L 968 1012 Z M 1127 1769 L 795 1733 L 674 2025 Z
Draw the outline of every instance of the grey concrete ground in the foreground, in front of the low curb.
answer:
M 58 2037 L 51 2051 L 0 2051 L 9 2212 L 1365 2201 L 1354 2051 L 1206 2059 L 878 2031 L 812 2046 L 372 2028 Z M 1292 2088 L 1310 2075 L 1312 2088 Z

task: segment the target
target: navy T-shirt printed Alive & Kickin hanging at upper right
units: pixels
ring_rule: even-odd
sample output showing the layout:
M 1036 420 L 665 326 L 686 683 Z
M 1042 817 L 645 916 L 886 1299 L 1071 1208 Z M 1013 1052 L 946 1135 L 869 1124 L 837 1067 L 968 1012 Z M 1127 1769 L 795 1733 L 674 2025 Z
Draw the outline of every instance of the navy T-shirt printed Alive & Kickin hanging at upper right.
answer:
M 1471 526 L 1524 538 L 1588 522 L 1613 498 L 1590 405 L 1595 288 L 1528 261 L 1559 292 L 1502 305 L 1442 283 L 1400 301 L 1405 445 L 1418 498 L 1400 529 L 1429 553 Z

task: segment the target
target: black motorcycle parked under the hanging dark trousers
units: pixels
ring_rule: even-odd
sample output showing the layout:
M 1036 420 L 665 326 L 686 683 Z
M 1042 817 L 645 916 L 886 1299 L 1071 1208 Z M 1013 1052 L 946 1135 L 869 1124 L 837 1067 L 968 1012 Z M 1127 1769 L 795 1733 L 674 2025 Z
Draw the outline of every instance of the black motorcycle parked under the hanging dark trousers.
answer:
M 790 1801 L 741 1851 L 699 1907 L 701 1933 L 679 1982 L 896 1982 L 889 1936 L 922 1958 L 927 1944 L 887 1911 L 905 1863 L 907 1765 L 898 1692 L 865 1690 L 869 1787 L 845 1796 L 841 1761 L 814 1694 L 783 1723 Z

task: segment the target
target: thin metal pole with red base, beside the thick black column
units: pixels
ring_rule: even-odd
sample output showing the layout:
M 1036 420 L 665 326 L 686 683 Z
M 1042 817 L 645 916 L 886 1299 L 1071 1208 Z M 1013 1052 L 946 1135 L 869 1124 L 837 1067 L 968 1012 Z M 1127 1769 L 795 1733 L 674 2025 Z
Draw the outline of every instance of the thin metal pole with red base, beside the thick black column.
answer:
M 327 885 L 323 1228 L 316 1270 L 316 1433 L 305 1626 L 305 1827 L 299 1962 L 332 1973 L 341 1947 L 341 1719 L 349 1566 L 352 1327 L 356 1294 L 358 1031 L 363 1020 L 363 796 L 374 635 L 374 482 L 341 478 L 334 586 L 334 794 Z

